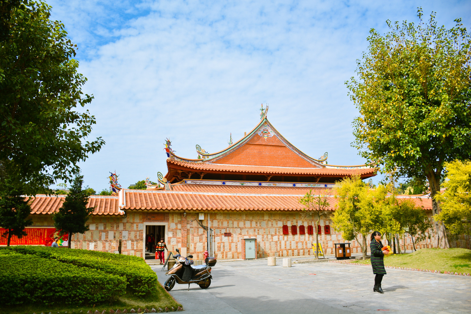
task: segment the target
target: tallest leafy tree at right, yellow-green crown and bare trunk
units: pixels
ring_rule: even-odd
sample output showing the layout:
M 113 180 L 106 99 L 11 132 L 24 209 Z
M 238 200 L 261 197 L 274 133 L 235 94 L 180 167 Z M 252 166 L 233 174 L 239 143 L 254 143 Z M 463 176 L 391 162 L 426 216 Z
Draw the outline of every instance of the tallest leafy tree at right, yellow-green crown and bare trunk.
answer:
M 434 13 L 424 23 L 419 8 L 418 17 L 417 25 L 387 21 L 384 36 L 372 29 L 346 85 L 360 111 L 352 146 L 368 165 L 427 180 L 434 197 L 444 162 L 471 156 L 471 37 L 461 19 L 447 30 Z M 434 228 L 436 247 L 448 248 L 443 223 Z

